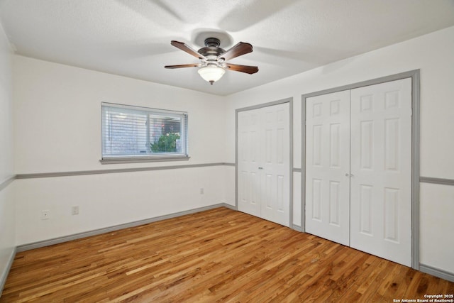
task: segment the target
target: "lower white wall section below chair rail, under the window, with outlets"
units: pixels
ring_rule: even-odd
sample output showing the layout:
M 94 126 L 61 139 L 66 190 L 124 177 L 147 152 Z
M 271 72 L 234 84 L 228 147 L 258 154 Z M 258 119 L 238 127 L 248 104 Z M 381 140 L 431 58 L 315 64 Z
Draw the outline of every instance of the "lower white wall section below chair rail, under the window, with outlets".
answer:
M 221 203 L 223 167 L 23 179 L 16 188 L 21 245 Z

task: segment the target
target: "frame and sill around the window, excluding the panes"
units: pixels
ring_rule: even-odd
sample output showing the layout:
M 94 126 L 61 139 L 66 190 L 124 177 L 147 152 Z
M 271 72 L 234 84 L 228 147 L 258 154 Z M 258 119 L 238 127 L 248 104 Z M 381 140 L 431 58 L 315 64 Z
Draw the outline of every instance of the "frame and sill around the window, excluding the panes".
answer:
M 156 153 L 145 155 L 104 155 L 104 107 L 110 107 L 114 109 L 128 109 L 133 111 L 142 111 L 146 114 L 148 121 L 150 121 L 150 115 L 157 116 L 179 116 L 182 118 L 182 134 L 180 138 L 183 138 L 182 153 Z M 147 142 L 149 138 L 147 138 Z M 189 160 L 189 148 L 188 148 L 188 114 L 186 111 L 173 111 L 168 109 L 154 109 L 145 106 L 133 106 L 127 104 L 115 104 L 109 102 L 101 102 L 101 164 L 116 164 L 116 163 L 137 163 L 137 162 L 163 162 L 163 161 L 184 161 Z

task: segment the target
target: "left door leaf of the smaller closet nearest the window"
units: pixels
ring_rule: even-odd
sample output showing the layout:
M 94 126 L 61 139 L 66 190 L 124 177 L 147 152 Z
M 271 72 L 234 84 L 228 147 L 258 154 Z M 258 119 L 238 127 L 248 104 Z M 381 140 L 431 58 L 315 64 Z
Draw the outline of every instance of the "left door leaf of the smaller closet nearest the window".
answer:
M 260 216 L 260 109 L 238 112 L 238 210 Z

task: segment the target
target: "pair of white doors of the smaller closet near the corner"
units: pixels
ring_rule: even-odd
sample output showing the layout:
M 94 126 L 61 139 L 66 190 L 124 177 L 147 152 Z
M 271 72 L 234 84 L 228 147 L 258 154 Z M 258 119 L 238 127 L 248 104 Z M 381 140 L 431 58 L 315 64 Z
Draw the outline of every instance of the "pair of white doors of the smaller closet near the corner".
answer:
M 289 226 L 289 103 L 239 111 L 237 122 L 238 210 Z

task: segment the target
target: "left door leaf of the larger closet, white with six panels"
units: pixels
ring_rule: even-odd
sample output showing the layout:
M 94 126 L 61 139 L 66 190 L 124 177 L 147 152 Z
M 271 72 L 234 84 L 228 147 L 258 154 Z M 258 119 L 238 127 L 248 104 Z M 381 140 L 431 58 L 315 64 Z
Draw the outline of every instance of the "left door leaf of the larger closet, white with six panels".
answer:
M 350 91 L 306 100 L 306 232 L 349 245 Z

